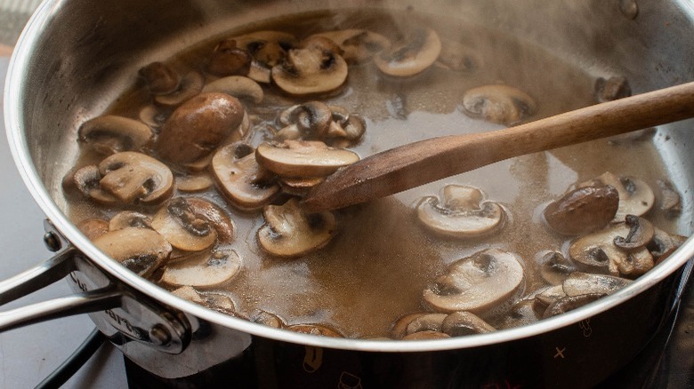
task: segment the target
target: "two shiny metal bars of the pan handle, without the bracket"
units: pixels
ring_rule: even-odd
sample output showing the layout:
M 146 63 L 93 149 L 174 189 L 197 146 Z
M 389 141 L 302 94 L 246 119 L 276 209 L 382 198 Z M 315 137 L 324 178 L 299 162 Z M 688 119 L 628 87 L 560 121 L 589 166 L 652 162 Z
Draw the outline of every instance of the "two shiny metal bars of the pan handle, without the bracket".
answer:
M 40 290 L 76 271 L 76 255 L 77 250 L 69 247 L 44 263 L 0 282 L 0 306 Z M 122 293 L 109 286 L 15 308 L 0 313 L 0 332 L 74 314 L 116 308 L 120 306 L 121 298 Z

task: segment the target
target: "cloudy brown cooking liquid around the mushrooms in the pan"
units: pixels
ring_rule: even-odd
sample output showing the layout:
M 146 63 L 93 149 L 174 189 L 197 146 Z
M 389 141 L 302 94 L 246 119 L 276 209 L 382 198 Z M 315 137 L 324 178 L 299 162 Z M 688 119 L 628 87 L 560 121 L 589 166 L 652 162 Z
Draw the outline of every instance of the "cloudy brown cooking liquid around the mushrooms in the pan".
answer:
M 366 28 L 392 39 L 398 36 L 399 26 L 413 25 L 431 26 L 442 39 L 464 44 L 479 63 L 469 73 L 434 66 L 407 79 L 381 75 L 372 62 L 351 65 L 341 91 L 311 99 L 345 107 L 366 119 L 366 134 L 359 144 L 350 147 L 362 158 L 419 139 L 502 128 L 462 112 L 464 91 L 480 85 L 505 83 L 529 93 L 538 109 L 529 120 L 596 102 L 593 85 L 597 75 L 591 74 L 594 68 L 567 63 L 533 44 L 480 26 L 461 25 L 457 20 L 434 21 L 408 12 L 395 16 L 324 12 L 259 22 L 253 28 L 225 36 L 277 29 L 301 39 L 319 31 Z M 182 68 L 204 69 L 209 53 L 221 38 L 215 37 L 166 61 Z M 249 114 L 258 117 L 250 138 L 254 146 L 271 139 L 267 127 L 276 125 L 279 112 L 307 100 L 288 98 L 274 86 L 264 85 L 263 90 L 261 107 L 246 106 Z M 146 87 L 137 84 L 109 108 L 109 113 L 137 117 L 140 108 L 149 103 Z M 82 162 L 92 158 L 85 155 Z M 214 189 L 206 194 L 174 196 L 205 196 L 229 210 L 236 226 L 232 247 L 243 259 L 244 270 L 227 290 L 236 297 L 240 313 L 252 315 L 262 309 L 278 314 L 289 324 L 327 323 L 348 337 L 387 336 L 399 316 L 424 311 L 422 292 L 429 282 L 453 261 L 479 250 L 494 247 L 517 253 L 526 269 L 525 294 L 545 284 L 537 272 L 537 254 L 561 250 L 568 239 L 553 234 L 544 225 L 540 217 L 544 204 L 563 194 L 571 184 L 605 171 L 642 179 L 657 195 L 656 180 L 666 177 L 650 140 L 596 140 L 521 156 L 376 202 L 337 210 L 338 232 L 332 241 L 297 259 L 272 258 L 262 252 L 256 242 L 256 232 L 263 224 L 261 212 L 238 212 Z M 503 204 L 508 216 L 503 228 L 474 240 L 444 238 L 424 230 L 416 220 L 414 203 L 424 195 L 439 195 L 448 184 L 479 187 L 489 200 Z M 656 208 L 647 217 L 674 233 L 672 221 Z M 71 204 L 76 222 L 89 217 L 109 218 L 117 211 Z M 141 211 L 152 215 L 156 208 Z

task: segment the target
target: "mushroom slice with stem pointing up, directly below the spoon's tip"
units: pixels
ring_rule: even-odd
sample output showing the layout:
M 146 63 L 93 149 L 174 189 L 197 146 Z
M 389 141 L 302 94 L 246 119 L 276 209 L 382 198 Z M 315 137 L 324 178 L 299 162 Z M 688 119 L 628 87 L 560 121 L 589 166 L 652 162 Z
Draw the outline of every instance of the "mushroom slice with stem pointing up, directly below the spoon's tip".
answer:
M 258 230 L 263 250 L 283 258 L 295 258 L 325 246 L 335 234 L 330 212 L 305 214 L 292 198 L 284 205 L 268 205 L 262 211 L 265 224 Z

